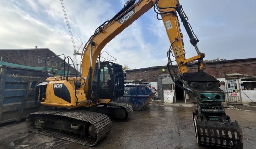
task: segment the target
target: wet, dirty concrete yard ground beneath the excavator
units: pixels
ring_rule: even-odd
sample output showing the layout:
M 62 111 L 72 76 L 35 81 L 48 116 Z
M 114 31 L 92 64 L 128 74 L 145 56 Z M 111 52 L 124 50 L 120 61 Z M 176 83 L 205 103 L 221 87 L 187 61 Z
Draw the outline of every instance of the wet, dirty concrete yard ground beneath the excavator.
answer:
M 205 149 L 198 146 L 192 125 L 193 104 L 149 104 L 134 111 L 127 122 L 113 122 L 112 132 L 95 147 L 31 133 L 25 122 L 0 126 L 0 148 L 174 148 Z M 256 111 L 226 109 L 231 120 L 237 120 L 244 137 L 244 149 L 256 148 Z

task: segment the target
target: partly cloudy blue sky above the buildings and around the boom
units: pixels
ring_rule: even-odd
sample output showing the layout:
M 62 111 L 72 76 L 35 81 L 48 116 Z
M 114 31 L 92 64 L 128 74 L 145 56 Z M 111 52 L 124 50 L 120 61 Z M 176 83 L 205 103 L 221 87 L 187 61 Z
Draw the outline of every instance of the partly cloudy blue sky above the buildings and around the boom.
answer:
M 100 24 L 122 9 L 125 2 L 64 0 L 70 14 L 69 22 L 75 44 L 81 44 L 79 36 L 85 43 Z M 179 2 L 200 40 L 198 47 L 206 54 L 205 60 L 256 57 L 255 0 Z M 60 0 L 1 0 L 0 21 L 0 49 L 38 46 L 73 57 L 73 45 Z M 181 30 L 186 58 L 197 55 L 182 25 Z M 166 65 L 169 46 L 163 22 L 157 20 L 155 12 L 150 9 L 110 41 L 102 51 L 115 57 L 117 63 L 138 69 Z

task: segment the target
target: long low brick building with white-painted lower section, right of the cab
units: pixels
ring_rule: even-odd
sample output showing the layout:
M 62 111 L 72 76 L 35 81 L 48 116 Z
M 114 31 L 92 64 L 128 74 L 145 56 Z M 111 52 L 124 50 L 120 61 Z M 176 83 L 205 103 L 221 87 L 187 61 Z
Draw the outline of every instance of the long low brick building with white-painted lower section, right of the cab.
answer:
M 177 65 L 174 67 L 179 72 Z M 256 102 L 256 58 L 206 60 L 204 67 L 206 73 L 226 83 L 230 103 Z M 188 72 L 196 71 L 197 65 L 188 64 Z M 146 82 L 157 82 L 159 76 L 167 74 L 167 66 L 126 70 L 127 80 L 143 79 Z

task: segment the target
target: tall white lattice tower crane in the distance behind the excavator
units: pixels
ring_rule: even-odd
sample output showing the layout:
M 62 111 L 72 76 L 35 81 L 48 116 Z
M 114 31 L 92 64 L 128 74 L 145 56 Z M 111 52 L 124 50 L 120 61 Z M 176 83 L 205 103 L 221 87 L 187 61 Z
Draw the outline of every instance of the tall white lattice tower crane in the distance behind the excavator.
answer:
M 81 45 L 79 47 L 75 45 L 74 37 L 73 37 L 72 31 L 71 31 L 71 27 L 70 27 L 70 24 L 69 24 L 69 21 L 68 21 L 68 16 L 67 16 L 66 9 L 65 9 L 65 4 L 64 4 L 63 0 L 60 0 L 60 2 L 61 2 L 62 9 L 63 9 L 63 12 L 64 12 L 64 16 L 65 16 L 65 19 L 66 19 L 66 22 L 67 22 L 68 31 L 69 31 L 69 34 L 70 34 L 70 37 L 71 37 L 71 40 L 72 40 L 72 44 L 73 44 L 73 48 L 74 48 L 73 62 L 76 65 L 77 64 L 77 55 L 81 55 L 80 48 L 82 47 L 83 43 L 81 41 L 81 38 L 79 37 L 79 39 L 81 41 Z M 74 25 L 74 23 L 73 23 L 73 25 Z

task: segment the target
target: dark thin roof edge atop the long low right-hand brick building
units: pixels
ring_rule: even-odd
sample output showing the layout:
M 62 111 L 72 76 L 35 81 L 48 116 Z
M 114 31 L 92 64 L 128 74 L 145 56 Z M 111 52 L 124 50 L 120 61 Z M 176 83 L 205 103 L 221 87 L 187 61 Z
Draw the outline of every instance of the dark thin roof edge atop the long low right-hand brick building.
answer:
M 221 59 L 220 61 L 216 60 L 204 60 L 204 64 L 205 65 L 209 65 L 209 64 L 223 64 L 223 63 L 234 63 L 234 62 L 241 62 L 241 61 L 254 61 L 256 60 L 256 58 L 248 58 L 248 59 L 232 59 L 232 60 L 224 60 Z M 189 65 L 193 65 L 192 64 L 188 64 Z M 177 67 L 177 65 L 173 65 L 174 67 Z M 126 70 L 127 72 L 132 72 L 132 71 L 144 71 L 144 70 L 152 70 L 152 69 L 162 69 L 162 68 L 167 68 L 166 65 L 163 66 L 151 66 L 148 68 L 140 68 L 140 69 L 131 69 L 131 70 Z

